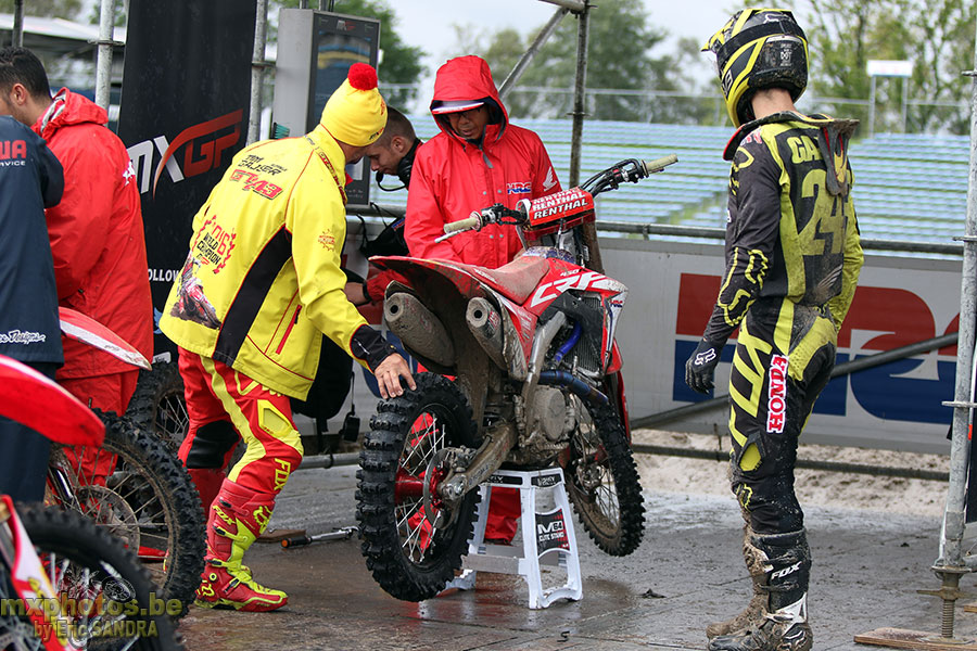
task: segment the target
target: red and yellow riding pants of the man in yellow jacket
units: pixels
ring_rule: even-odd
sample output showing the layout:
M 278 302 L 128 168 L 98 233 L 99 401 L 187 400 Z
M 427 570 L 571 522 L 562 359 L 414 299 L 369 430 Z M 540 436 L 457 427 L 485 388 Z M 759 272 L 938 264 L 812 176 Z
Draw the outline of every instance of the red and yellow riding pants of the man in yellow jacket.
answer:
M 186 462 L 203 425 L 229 422 L 248 448 L 228 478 L 252 490 L 277 495 L 299 467 L 303 451 L 288 396 L 221 361 L 183 349 L 179 368 L 190 420 L 180 459 Z

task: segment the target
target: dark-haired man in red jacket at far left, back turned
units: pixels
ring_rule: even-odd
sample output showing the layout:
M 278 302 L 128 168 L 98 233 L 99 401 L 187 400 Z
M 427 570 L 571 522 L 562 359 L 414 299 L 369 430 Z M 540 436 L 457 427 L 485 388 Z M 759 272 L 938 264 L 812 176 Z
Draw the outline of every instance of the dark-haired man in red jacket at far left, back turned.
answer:
M 64 196 L 46 212 L 59 304 L 153 352 L 153 307 L 136 175 L 109 115 L 62 88 L 51 97 L 43 65 L 24 48 L 0 50 L 0 114 L 27 125 L 64 167 Z M 64 341 L 58 382 L 86 405 L 124 413 L 138 369 Z M 100 469 L 96 474 L 103 474 Z M 92 470 L 86 469 L 91 476 Z

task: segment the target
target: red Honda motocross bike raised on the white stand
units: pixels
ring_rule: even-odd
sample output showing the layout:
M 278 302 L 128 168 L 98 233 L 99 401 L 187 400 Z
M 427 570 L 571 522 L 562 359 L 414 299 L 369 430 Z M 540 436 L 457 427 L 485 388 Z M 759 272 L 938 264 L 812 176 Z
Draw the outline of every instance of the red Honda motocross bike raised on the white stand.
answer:
M 439 241 L 515 225 L 525 252 L 499 269 L 370 259 L 402 277 L 388 286 L 384 318 L 433 371 L 378 405 L 360 454 L 363 553 L 390 595 L 420 601 L 444 588 L 468 549 L 477 488 L 504 463 L 559 463 L 601 550 L 625 556 L 640 544 L 644 506 L 614 344 L 627 288 L 600 268 L 594 196 L 675 161 L 622 161 L 579 188 L 445 226 Z

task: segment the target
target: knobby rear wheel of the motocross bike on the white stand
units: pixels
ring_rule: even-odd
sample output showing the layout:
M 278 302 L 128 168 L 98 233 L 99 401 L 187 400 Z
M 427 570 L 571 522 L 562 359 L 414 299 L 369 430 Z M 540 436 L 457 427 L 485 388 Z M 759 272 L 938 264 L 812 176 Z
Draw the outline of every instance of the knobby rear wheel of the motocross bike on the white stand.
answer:
M 378 405 L 356 490 L 367 567 L 380 587 L 405 601 L 434 597 L 461 566 L 479 499 L 472 490 L 451 509 L 436 495 L 453 450 L 478 447 L 468 400 L 442 375 L 415 380 L 416 391 Z

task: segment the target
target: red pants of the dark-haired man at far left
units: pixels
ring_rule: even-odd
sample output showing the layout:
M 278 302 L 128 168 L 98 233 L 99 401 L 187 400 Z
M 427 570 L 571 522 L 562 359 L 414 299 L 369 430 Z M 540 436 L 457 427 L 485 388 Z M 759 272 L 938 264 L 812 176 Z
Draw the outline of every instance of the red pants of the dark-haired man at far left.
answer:
M 129 407 L 138 380 L 139 370 L 134 369 L 91 378 L 61 378 L 58 384 L 89 407 L 122 416 Z M 93 447 L 83 448 L 80 459 L 75 449 L 69 447 L 64 448 L 64 456 L 76 469 L 78 481 L 86 485 L 104 486 L 105 477 L 115 468 L 114 455 Z

